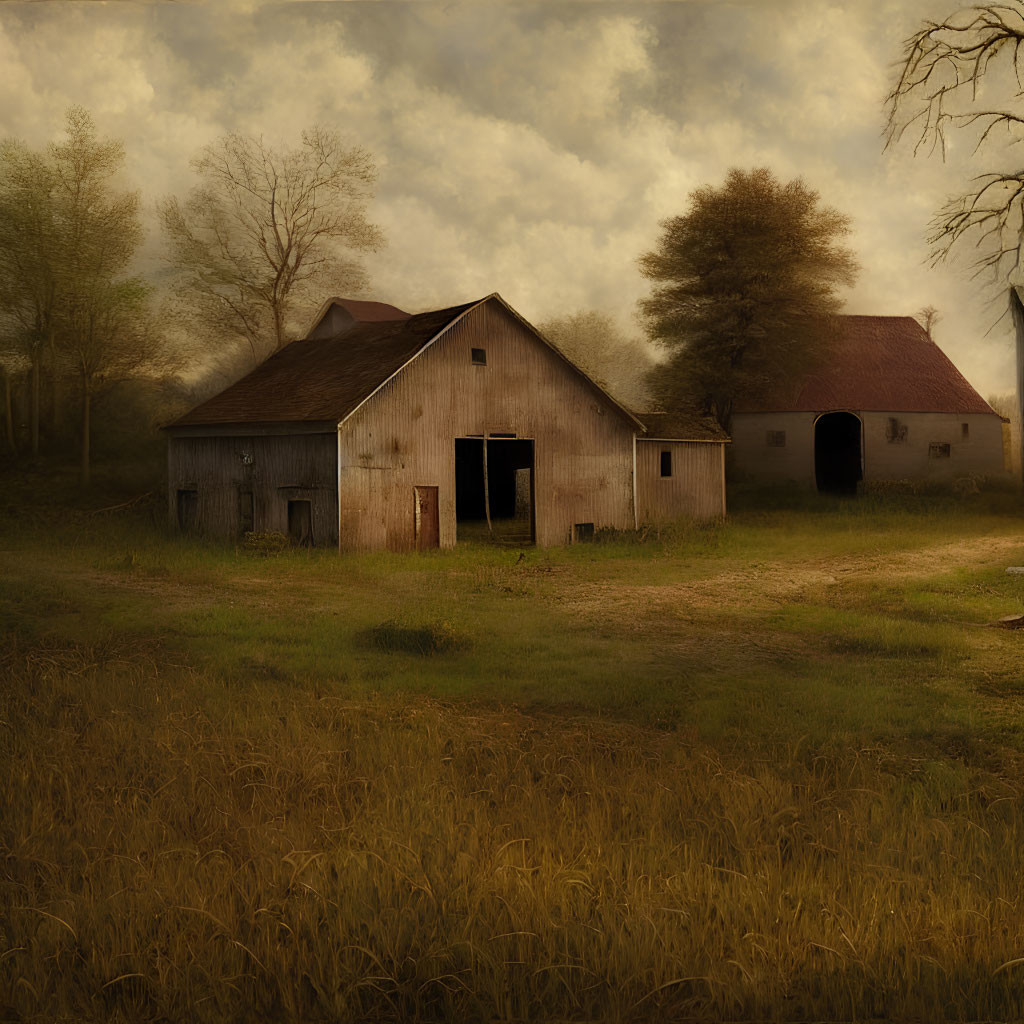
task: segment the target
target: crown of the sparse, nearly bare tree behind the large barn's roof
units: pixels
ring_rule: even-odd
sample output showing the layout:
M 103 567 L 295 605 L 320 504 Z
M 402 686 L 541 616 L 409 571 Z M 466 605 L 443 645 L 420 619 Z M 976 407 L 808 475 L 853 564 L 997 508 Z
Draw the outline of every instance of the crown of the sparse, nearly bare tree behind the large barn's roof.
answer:
M 319 301 L 310 286 L 364 286 L 353 254 L 383 244 L 367 219 L 376 169 L 365 150 L 317 127 L 292 150 L 232 133 L 193 168 L 201 184 L 159 212 L 181 292 L 204 326 L 248 344 L 255 359 L 288 342 L 297 307 Z

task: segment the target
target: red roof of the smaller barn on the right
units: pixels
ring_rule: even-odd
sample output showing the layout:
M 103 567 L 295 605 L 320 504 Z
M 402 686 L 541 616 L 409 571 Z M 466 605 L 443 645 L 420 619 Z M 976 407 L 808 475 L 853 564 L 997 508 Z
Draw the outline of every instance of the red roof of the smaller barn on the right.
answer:
M 992 408 L 912 316 L 838 316 L 827 359 L 737 400 L 736 413 L 988 413 Z

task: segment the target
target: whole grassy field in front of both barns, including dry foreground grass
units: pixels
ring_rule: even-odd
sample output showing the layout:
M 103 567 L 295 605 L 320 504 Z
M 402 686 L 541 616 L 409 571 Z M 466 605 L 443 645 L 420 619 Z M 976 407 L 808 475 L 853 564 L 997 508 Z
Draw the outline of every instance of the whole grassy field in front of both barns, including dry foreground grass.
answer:
M 1024 1016 L 1015 497 L 521 559 L 24 501 L 0 1020 Z

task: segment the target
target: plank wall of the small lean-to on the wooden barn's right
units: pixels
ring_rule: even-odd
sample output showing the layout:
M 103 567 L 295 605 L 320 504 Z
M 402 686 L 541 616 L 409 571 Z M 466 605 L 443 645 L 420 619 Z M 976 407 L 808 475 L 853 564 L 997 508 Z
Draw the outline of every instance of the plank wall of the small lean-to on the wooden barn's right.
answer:
M 662 476 L 662 453 L 672 476 Z M 641 523 L 725 515 L 722 444 L 637 438 L 637 509 Z

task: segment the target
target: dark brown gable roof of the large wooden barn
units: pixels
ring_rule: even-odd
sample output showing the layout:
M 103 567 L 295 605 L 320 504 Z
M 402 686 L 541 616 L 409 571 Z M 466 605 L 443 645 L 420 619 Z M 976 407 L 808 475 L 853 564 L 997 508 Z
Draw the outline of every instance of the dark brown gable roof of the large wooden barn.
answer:
M 523 324 L 635 427 L 643 429 L 629 410 L 587 377 L 497 292 L 475 302 L 430 312 L 411 315 L 396 310 L 402 317 L 400 319 L 360 317 L 345 331 L 331 337 L 293 341 L 241 380 L 170 424 L 170 427 L 310 421 L 340 423 L 466 313 L 490 300 L 497 301 Z M 366 311 L 372 315 L 378 311 L 356 310 L 352 308 L 354 303 L 330 299 L 322 306 L 314 327 L 332 305 L 341 302 L 345 302 L 345 308 L 352 313 Z M 386 307 L 384 303 L 360 305 L 394 308 Z

